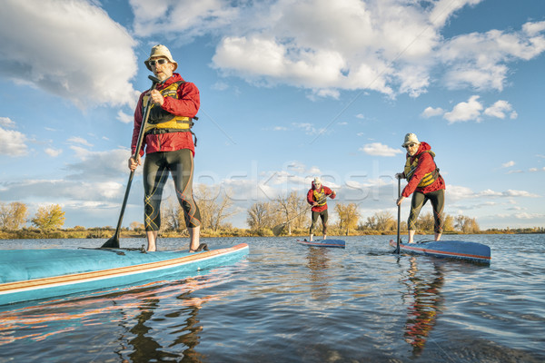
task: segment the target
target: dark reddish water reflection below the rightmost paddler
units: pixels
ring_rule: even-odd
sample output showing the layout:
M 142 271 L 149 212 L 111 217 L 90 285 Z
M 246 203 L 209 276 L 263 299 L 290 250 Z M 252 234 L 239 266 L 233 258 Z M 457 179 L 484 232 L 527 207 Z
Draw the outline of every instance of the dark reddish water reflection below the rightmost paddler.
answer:
M 408 292 L 403 299 L 407 303 L 407 321 L 404 338 L 412 346 L 413 356 L 420 356 L 431 330 L 441 313 L 444 284 L 442 267 L 433 263 L 433 270 L 420 271 L 415 257 L 410 258 L 408 278 L 405 280 Z

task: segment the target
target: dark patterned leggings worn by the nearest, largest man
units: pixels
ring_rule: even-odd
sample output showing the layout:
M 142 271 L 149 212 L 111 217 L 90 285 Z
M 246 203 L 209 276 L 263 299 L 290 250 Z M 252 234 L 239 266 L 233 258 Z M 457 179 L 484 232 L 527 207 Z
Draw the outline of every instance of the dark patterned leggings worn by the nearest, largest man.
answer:
M 185 226 L 201 225 L 201 212 L 193 200 L 193 152 L 152 152 L 144 160 L 144 226 L 145 231 L 161 228 L 161 198 L 168 173 L 173 175 L 176 196 L 183 209 Z

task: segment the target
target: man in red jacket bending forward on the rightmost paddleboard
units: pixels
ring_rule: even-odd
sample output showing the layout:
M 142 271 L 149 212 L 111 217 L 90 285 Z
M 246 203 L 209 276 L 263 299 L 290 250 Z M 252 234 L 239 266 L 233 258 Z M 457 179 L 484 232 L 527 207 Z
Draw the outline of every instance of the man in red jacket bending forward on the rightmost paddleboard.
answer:
M 409 243 L 414 243 L 416 232 L 416 220 L 422 206 L 426 201 L 431 201 L 433 208 L 433 231 L 435 240 L 441 239 L 443 227 L 443 207 L 445 202 L 445 181 L 439 173 L 435 164 L 435 153 L 426 142 L 419 142 L 414 133 L 407 133 L 401 147 L 407 149 L 405 168 L 403 172 L 397 173 L 398 179 L 407 179 L 408 183 L 401 192 L 401 197 L 396 204 L 412 194 L 411 212 L 407 226 L 409 229 Z

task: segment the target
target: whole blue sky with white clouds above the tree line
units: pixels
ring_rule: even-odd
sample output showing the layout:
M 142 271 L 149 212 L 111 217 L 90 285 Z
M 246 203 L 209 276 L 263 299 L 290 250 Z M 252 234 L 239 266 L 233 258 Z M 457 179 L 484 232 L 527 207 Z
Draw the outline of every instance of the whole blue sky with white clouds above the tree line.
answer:
M 5 0 L 0 30 L 0 201 L 31 215 L 116 224 L 143 62 L 165 44 L 201 92 L 195 183 L 233 199 L 236 227 L 317 175 L 330 207 L 395 216 L 406 132 L 436 152 L 447 213 L 545 225 L 542 0 Z M 138 173 L 125 226 L 142 195 Z

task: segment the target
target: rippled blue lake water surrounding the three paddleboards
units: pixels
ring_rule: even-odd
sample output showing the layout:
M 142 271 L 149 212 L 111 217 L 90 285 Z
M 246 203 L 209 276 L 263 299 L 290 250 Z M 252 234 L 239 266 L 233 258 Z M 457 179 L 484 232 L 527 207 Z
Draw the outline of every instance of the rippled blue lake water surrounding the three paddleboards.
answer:
M 392 254 L 391 238 L 347 237 L 345 250 L 203 239 L 250 254 L 191 278 L 0 307 L 0 362 L 545 361 L 544 235 L 456 236 L 489 245 L 490 266 Z

